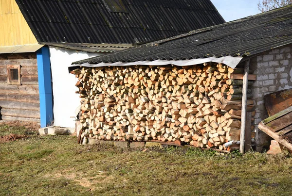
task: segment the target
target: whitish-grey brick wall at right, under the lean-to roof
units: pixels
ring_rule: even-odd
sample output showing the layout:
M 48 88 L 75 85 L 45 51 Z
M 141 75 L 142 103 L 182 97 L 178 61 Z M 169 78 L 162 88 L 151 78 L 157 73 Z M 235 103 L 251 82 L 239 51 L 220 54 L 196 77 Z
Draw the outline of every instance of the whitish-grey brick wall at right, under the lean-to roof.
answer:
M 268 117 L 264 96 L 273 92 L 292 88 L 292 45 L 272 49 L 251 60 L 251 69 L 257 75 L 253 83 L 256 116 L 256 145 L 269 145 L 270 137 L 257 129 L 257 125 Z M 260 149 L 258 149 L 260 150 Z

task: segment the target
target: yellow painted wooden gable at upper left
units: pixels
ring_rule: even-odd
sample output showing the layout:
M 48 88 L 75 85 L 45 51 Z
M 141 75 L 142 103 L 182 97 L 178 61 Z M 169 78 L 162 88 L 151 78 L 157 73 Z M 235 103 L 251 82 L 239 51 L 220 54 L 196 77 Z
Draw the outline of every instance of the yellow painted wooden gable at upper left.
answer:
M 15 0 L 0 0 L 0 47 L 36 43 Z

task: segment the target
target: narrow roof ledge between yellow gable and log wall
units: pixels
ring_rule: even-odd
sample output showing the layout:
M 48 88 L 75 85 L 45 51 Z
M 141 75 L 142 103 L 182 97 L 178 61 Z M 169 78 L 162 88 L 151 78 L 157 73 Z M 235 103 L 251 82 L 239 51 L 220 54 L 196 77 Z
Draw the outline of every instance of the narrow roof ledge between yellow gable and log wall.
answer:
M 45 45 L 42 44 L 25 44 L 17 46 L 2 46 L 0 47 L 0 54 L 7 53 L 25 53 L 25 52 L 36 52 L 38 49 Z

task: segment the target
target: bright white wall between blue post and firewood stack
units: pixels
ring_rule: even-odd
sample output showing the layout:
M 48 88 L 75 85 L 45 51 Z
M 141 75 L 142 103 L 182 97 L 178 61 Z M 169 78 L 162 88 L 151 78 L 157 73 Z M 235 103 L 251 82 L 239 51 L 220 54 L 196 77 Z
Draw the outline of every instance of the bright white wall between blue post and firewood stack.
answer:
M 72 49 L 50 48 L 50 60 L 54 98 L 54 126 L 75 127 L 75 109 L 80 105 L 79 94 L 75 94 L 77 79 L 69 74 L 68 66 L 73 62 L 102 54 Z

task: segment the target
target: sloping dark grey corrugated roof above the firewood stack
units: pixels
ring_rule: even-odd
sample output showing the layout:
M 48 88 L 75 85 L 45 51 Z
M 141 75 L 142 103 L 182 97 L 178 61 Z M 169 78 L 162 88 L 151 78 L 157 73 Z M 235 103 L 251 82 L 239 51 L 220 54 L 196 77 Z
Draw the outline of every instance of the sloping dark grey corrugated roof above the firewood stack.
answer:
M 292 43 L 292 5 L 73 64 L 251 56 Z

